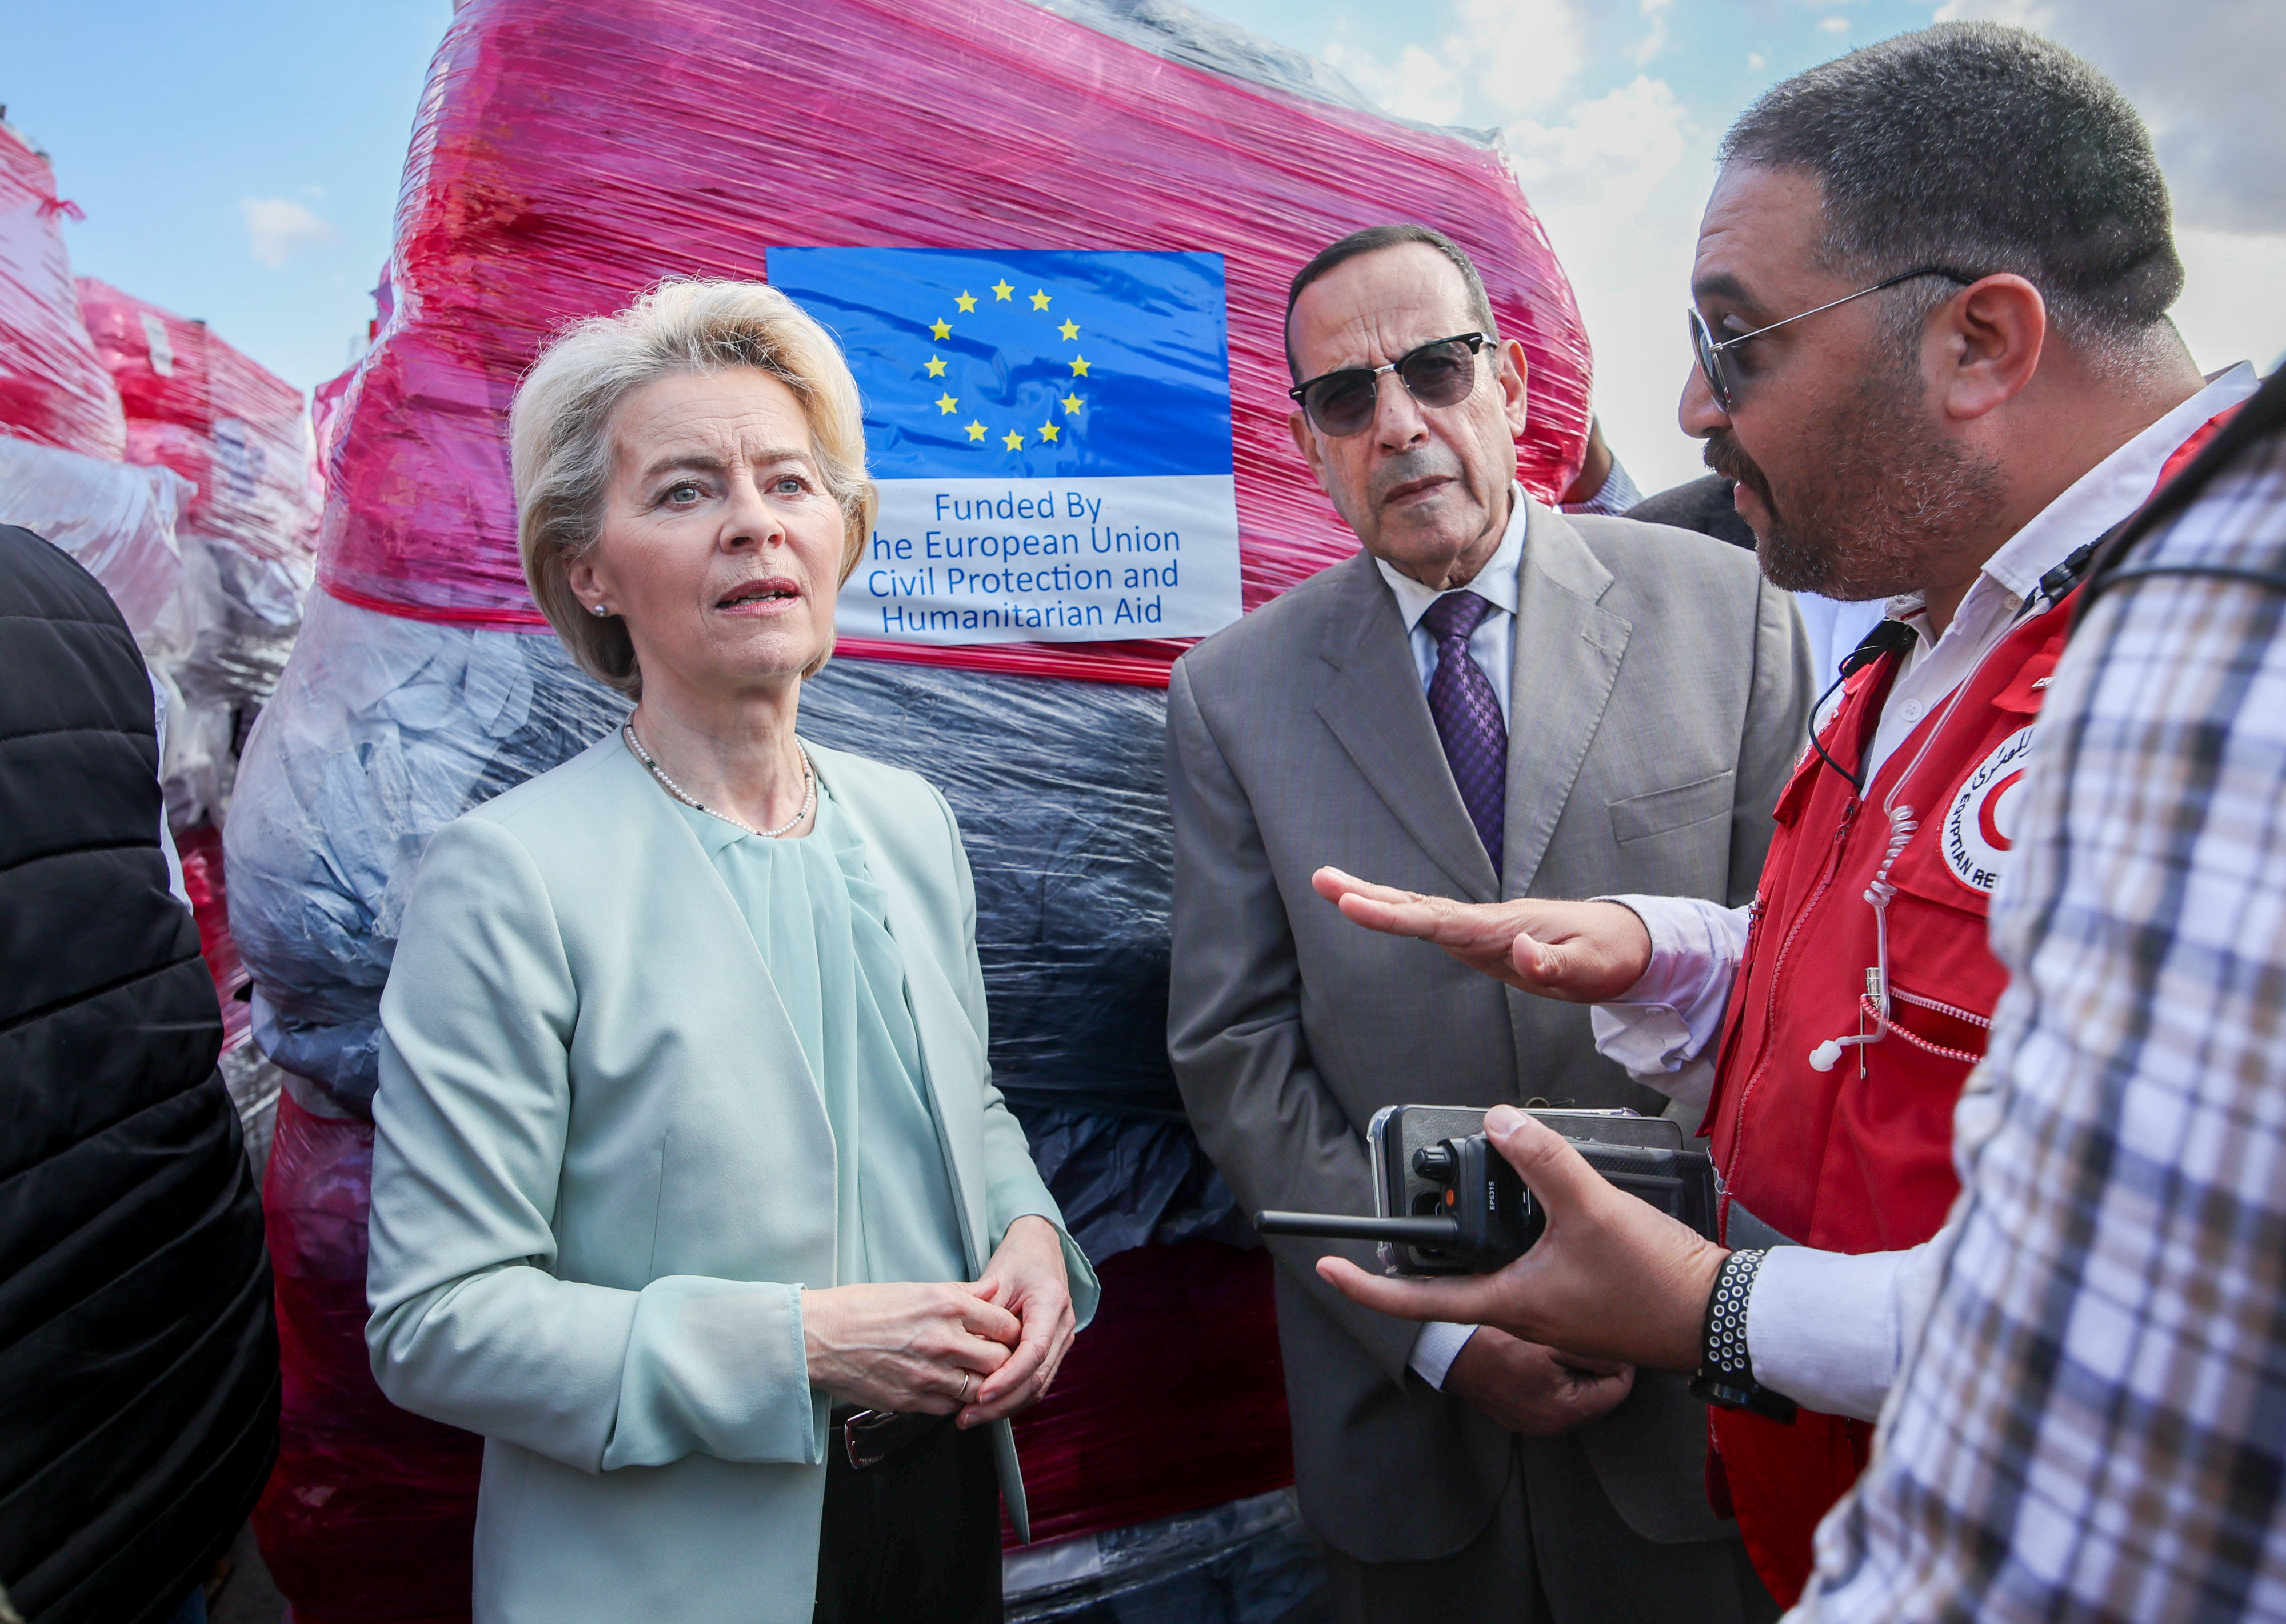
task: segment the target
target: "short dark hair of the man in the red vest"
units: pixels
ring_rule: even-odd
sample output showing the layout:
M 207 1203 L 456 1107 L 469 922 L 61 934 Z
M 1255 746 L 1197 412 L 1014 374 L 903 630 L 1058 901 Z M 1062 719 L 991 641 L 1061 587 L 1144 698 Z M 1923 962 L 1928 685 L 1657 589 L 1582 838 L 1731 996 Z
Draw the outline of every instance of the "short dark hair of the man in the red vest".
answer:
M 2183 290 L 2135 108 L 2019 27 L 1939 23 L 1797 73 L 1740 114 L 1721 158 L 1817 176 L 1838 268 L 2016 272 L 2067 339 L 2142 336 Z M 1923 311 L 1948 293 L 1932 281 Z

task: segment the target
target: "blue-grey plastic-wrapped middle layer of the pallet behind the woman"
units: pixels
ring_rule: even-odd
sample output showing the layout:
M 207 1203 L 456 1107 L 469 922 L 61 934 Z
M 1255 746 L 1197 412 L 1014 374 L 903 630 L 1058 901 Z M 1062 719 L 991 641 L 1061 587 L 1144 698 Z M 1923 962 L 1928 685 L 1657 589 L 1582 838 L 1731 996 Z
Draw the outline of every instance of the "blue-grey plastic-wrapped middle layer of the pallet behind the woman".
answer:
M 313 599 L 226 830 L 254 1034 L 304 1105 L 370 1109 L 427 837 L 624 714 L 555 638 Z M 802 688 L 807 739 L 910 766 L 960 819 L 994 1080 L 1093 1258 L 1250 1240 L 1166 1064 L 1164 718 L 1159 688 L 889 661 L 834 661 Z

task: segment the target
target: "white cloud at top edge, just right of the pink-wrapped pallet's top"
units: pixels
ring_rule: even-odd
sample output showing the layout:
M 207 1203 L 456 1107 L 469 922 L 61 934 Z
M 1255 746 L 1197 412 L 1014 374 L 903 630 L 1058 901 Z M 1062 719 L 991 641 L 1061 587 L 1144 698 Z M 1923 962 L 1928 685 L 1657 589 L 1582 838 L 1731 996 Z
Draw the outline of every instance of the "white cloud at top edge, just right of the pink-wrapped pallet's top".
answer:
M 1399 119 L 1481 126 L 1557 103 L 1586 39 L 1573 0 L 1456 0 L 1452 27 L 1426 46 L 1388 57 L 1335 39 L 1324 55 Z

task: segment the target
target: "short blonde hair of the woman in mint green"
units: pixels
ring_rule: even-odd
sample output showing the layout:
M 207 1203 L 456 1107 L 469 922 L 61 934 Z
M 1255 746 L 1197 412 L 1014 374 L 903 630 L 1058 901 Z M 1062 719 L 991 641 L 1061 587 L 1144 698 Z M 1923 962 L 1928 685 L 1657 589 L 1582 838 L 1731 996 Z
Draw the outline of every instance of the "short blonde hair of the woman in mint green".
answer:
M 752 366 L 786 384 L 809 419 L 828 494 L 841 503 L 841 581 L 850 579 L 880 501 L 864 471 L 864 412 L 841 348 L 802 307 L 761 281 L 668 279 L 617 316 L 567 327 L 517 389 L 507 416 L 517 485 L 517 551 L 539 613 L 581 670 L 642 695 L 636 645 L 617 615 L 594 615 L 572 592 L 569 567 L 597 542 L 610 487 L 610 414 L 626 396 L 674 373 Z M 814 677 L 825 650 L 802 670 Z

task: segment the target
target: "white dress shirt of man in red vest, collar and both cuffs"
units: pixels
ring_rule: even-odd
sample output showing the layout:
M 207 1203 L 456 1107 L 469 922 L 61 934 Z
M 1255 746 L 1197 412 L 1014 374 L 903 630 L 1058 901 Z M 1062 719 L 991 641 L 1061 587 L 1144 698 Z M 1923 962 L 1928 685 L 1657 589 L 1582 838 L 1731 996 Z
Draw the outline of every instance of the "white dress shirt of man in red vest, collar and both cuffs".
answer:
M 1984 563 L 1952 622 L 1929 636 L 1920 595 L 1888 613 L 1913 627 L 1872 746 L 1870 780 L 2016 624 L 2039 576 L 2126 519 L 2151 494 L 2167 457 L 2208 419 L 2254 393 L 2254 368 L 2217 373 L 2206 389 L 2083 473 Z M 1836 700 L 1838 702 L 1838 700 Z M 1817 716 L 1813 725 L 1824 725 Z M 1705 1052 L 1721 1032 L 1731 981 L 1747 947 L 1747 910 L 1694 897 L 1612 897 L 1650 931 L 1650 970 L 1625 1000 L 1598 1004 L 1596 1048 L 1673 1100 L 1703 1107 L 1714 1086 Z M 1872 1420 L 1897 1372 L 1902 1336 L 1934 1290 L 1927 1247 L 1861 1256 L 1779 1247 L 1753 1279 L 1747 1352 L 1763 1386 L 1811 1409 Z

